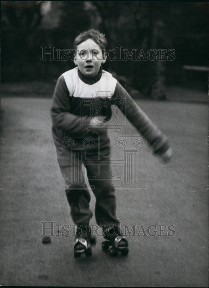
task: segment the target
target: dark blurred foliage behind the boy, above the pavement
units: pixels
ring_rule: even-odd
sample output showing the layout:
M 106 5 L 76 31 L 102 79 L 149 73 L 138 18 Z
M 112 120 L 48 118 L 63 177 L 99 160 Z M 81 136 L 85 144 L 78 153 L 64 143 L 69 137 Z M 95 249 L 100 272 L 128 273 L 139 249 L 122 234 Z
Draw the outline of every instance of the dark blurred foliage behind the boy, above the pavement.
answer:
M 183 65 L 208 66 L 208 3 L 118 1 L 2 1 L 1 80 L 57 79 L 72 61 L 41 61 L 41 45 L 73 48 L 74 37 L 99 29 L 116 45 L 140 51 L 175 49 L 174 61 L 107 61 L 121 84 L 148 96 L 164 96 L 181 83 Z M 189 75 L 207 82 L 205 73 Z

